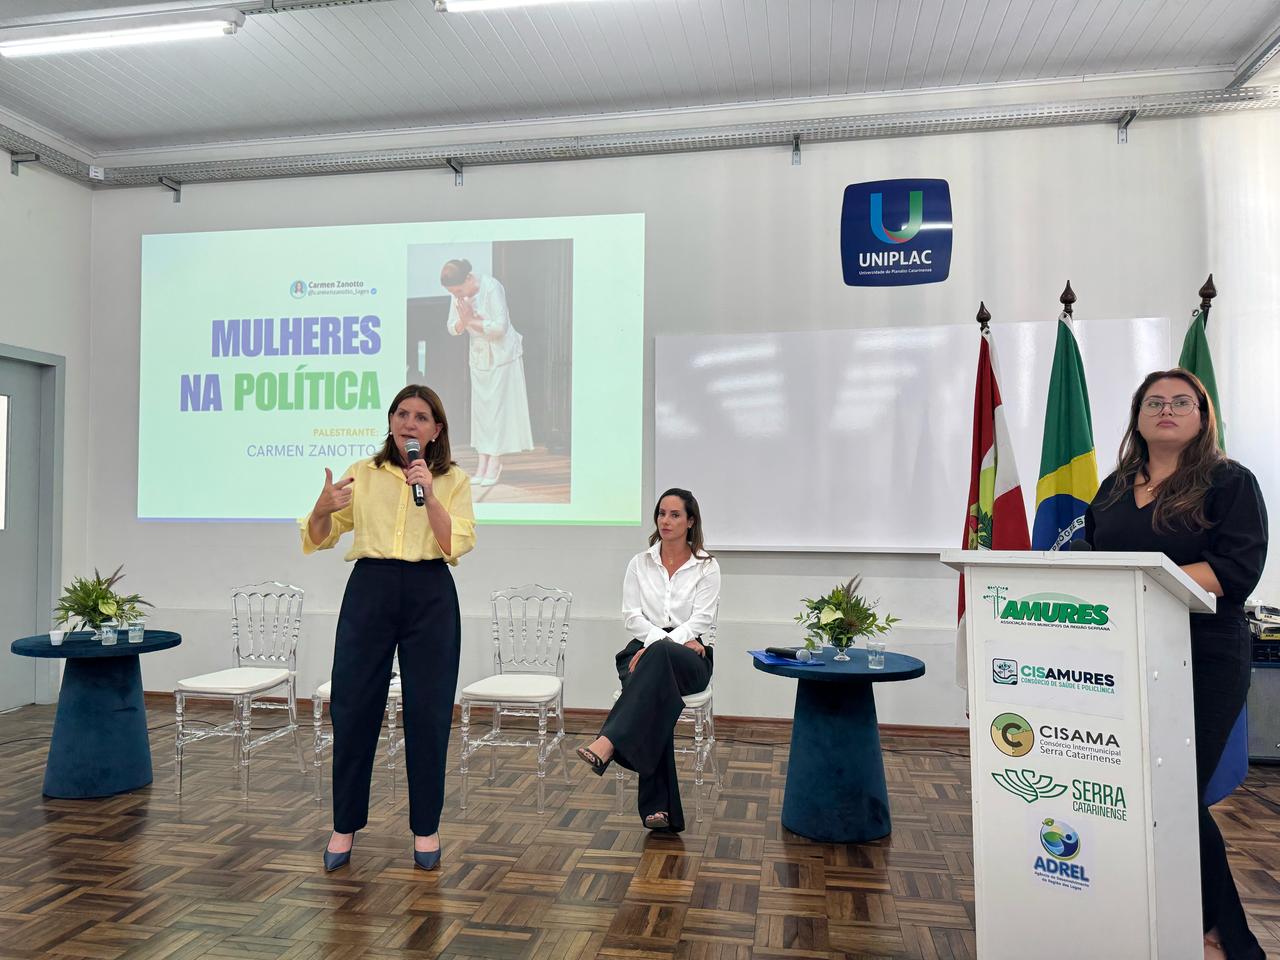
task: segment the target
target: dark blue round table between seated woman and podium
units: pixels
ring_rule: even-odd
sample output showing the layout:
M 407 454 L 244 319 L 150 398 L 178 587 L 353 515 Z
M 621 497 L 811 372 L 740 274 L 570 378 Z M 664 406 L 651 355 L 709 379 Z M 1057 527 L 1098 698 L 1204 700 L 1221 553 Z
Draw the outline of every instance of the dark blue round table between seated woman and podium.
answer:
M 754 660 L 759 671 L 800 681 L 782 826 L 831 844 L 888 836 L 888 788 L 872 684 L 924 675 L 924 662 L 915 657 L 886 653 L 884 669 L 870 669 L 867 650 L 851 646 L 847 653 L 847 662 L 837 662 L 836 652 L 826 648 L 822 667 Z

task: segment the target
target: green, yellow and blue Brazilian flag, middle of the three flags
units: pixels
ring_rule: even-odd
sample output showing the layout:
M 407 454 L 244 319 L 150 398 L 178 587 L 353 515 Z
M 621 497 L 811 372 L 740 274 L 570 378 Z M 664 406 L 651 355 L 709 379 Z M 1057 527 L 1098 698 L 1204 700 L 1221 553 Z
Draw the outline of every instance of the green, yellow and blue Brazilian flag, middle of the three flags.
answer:
M 1057 319 L 1057 346 L 1044 404 L 1044 442 L 1036 484 L 1033 550 L 1060 550 L 1084 535 L 1084 508 L 1098 492 L 1098 460 L 1093 451 L 1093 417 L 1084 385 L 1084 361 L 1071 330 L 1071 317 Z

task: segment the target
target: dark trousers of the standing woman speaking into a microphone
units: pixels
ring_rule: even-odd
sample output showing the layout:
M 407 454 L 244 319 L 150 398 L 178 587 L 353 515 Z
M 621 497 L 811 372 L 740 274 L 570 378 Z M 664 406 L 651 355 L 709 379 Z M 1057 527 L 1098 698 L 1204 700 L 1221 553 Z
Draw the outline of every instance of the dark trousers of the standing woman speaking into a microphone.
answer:
M 369 778 L 399 649 L 408 822 L 440 826 L 444 762 L 458 684 L 462 626 L 444 561 L 360 559 L 347 581 L 333 652 L 333 828 L 369 822 Z

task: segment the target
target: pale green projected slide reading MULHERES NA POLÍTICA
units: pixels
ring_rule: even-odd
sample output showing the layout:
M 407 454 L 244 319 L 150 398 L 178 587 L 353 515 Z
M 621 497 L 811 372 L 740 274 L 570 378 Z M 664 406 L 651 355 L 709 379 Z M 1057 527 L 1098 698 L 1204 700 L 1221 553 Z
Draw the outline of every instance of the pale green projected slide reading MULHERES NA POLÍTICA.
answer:
M 481 522 L 636 524 L 643 297 L 639 214 L 146 236 L 138 517 L 296 518 L 425 383 Z

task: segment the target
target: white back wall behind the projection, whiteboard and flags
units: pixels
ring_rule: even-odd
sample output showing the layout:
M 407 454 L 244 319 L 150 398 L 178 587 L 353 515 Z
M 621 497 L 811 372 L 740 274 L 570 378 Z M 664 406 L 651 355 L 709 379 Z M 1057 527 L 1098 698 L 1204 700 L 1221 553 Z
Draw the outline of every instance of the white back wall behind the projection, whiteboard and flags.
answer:
M 973 324 L 979 300 L 987 302 L 997 325 L 1043 320 L 1056 315 L 1057 294 L 1068 278 L 1080 297 L 1079 316 L 1170 316 L 1180 330 L 1196 289 L 1212 269 L 1222 291 L 1211 326 L 1215 349 L 1240 356 L 1220 372 L 1230 411 L 1256 390 L 1230 383 L 1245 375 L 1247 353 L 1238 344 L 1247 343 L 1254 328 L 1272 328 L 1280 307 L 1274 280 L 1260 285 L 1244 275 L 1274 264 L 1280 252 L 1277 187 L 1265 160 L 1277 155 L 1276 122 L 1276 114 L 1260 113 L 1139 123 L 1128 146 L 1116 145 L 1108 125 L 815 145 L 805 147 L 799 168 L 791 166 L 786 150 L 471 168 L 462 188 L 453 186 L 452 174 L 419 172 L 189 186 L 182 204 L 172 204 L 168 191 L 159 187 L 100 191 L 93 196 L 92 218 L 95 364 L 88 460 L 95 483 L 87 559 L 99 567 L 124 562 L 127 585 L 160 607 L 157 623 L 184 632 L 182 648 L 146 658 L 147 689 L 169 689 L 175 677 L 224 666 L 228 589 L 268 577 L 307 589 L 303 689 L 328 672 L 348 572 L 340 553 L 305 559 L 292 526 L 140 524 L 133 518 L 138 241 L 143 233 L 641 211 L 648 232 L 645 410 L 653 406 L 655 334 Z M 1206 147 L 1213 140 L 1219 145 Z M 1260 148 L 1256 156 L 1245 151 L 1254 165 L 1239 166 L 1230 145 L 1239 151 L 1254 141 L 1270 145 L 1268 150 Z M 886 177 L 951 182 L 955 253 L 947 283 L 899 289 L 842 284 L 842 189 L 851 182 Z M 1240 197 L 1248 200 L 1253 218 L 1270 224 L 1271 233 L 1253 260 L 1238 256 L 1231 246 L 1236 239 L 1228 239 L 1242 228 L 1238 219 L 1228 219 L 1244 216 L 1234 206 Z M 1274 266 L 1267 269 L 1274 275 Z M 1254 297 L 1248 305 L 1244 291 Z M 1234 338 L 1230 343 L 1236 346 L 1224 338 Z M 956 357 L 956 362 L 972 366 L 975 357 L 977 338 L 974 355 Z M 1277 390 L 1274 379 L 1266 390 L 1270 411 Z M 1245 420 L 1235 416 L 1242 433 Z M 1266 428 L 1272 434 L 1274 422 Z M 188 462 L 192 483 L 218 481 L 220 465 L 202 461 L 198 451 L 184 448 L 182 438 L 174 438 L 173 456 Z M 776 471 L 778 498 L 804 497 L 803 465 L 771 463 L 768 456 L 764 448 L 758 462 L 742 468 Z M 1112 458 L 1114 452 L 1100 452 L 1103 463 Z M 650 416 L 641 512 L 652 508 L 652 463 Z M 1274 463 L 1265 466 L 1272 500 L 1280 503 L 1274 483 L 1280 471 L 1272 470 Z M 1033 465 L 1024 467 L 1024 483 L 1034 483 L 1032 471 Z M 300 513 L 315 494 L 314 489 L 297 492 Z M 769 503 L 759 508 L 768 511 Z M 876 509 L 876 504 L 854 508 Z M 957 539 L 960 527 L 956 517 Z M 538 580 L 572 590 L 576 598 L 568 704 L 607 707 L 616 685 L 612 654 L 623 641 L 617 617 L 620 580 L 644 536 L 635 527 L 483 527 L 479 549 L 456 571 L 466 620 L 462 682 L 489 664 L 488 591 Z M 951 684 L 955 579 L 934 561 L 737 554 L 723 557 L 722 564 L 719 713 L 788 716 L 792 684 L 751 669 L 741 650 L 797 640 L 791 623 L 797 598 L 861 572 L 884 608 L 904 618 L 893 635 L 895 648 L 922 657 L 929 669 L 922 680 L 882 691 L 881 719 L 963 722 L 961 696 Z M 1272 595 L 1280 595 L 1275 580 L 1270 582 Z

